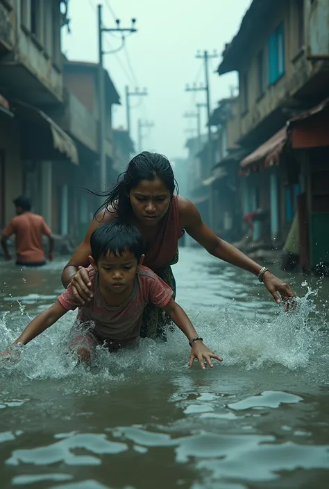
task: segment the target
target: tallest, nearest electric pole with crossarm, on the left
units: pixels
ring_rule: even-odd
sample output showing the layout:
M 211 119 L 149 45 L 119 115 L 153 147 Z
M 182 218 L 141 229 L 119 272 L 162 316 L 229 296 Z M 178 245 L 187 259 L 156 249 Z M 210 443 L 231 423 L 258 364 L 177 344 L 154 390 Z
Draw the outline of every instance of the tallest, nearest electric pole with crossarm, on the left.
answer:
M 135 33 L 136 19 L 131 19 L 131 26 L 129 28 L 121 28 L 119 19 L 116 20 L 117 27 L 115 28 L 104 28 L 102 22 L 102 9 L 103 7 L 99 5 L 97 7 L 98 19 L 97 28 L 99 33 L 99 74 L 98 74 L 98 110 L 99 110 L 99 180 L 100 188 L 106 185 L 107 175 L 106 175 L 106 91 L 105 91 L 105 69 L 103 67 L 103 55 L 106 51 L 103 50 L 103 33 L 121 33 L 122 40 L 124 42 L 125 33 Z M 111 51 L 109 51 L 110 53 Z

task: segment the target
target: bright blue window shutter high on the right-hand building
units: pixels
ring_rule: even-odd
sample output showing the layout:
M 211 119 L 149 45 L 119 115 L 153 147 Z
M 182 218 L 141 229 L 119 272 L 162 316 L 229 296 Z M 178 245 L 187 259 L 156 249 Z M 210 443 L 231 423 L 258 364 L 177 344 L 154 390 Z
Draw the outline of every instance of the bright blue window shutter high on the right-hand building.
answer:
M 280 24 L 269 37 L 269 83 L 273 85 L 285 74 L 285 27 Z

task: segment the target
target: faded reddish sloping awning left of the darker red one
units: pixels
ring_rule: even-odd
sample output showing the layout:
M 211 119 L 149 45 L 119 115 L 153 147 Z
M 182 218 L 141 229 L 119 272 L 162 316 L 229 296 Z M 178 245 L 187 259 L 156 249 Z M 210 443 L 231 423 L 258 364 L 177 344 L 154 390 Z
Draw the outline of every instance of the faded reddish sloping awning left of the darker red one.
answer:
M 283 146 L 287 141 L 287 129 L 284 127 L 276 132 L 268 141 L 263 143 L 259 148 L 255 149 L 253 153 L 246 156 L 240 163 L 242 173 L 248 166 L 262 165 L 264 168 L 271 166 L 271 164 L 279 164 L 280 153 L 282 153 Z

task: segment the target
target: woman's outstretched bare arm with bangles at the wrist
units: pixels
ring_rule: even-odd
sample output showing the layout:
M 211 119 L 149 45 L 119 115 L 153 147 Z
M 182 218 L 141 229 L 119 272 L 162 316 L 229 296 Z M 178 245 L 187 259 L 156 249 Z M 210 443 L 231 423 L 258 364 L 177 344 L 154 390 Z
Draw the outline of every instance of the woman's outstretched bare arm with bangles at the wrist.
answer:
M 217 237 L 216 234 L 203 223 L 198 209 L 196 209 L 192 202 L 180 197 L 179 212 L 182 228 L 185 228 L 188 234 L 198 241 L 210 255 L 222 259 L 223 261 L 227 261 L 239 268 L 244 268 L 244 270 L 251 272 L 254 275 L 260 273 L 262 266 L 244 255 L 244 253 L 235 248 L 235 246 L 230 245 L 230 243 Z M 294 297 L 294 293 L 290 289 L 289 284 L 282 282 L 282 280 L 269 272 L 264 273 L 263 282 L 267 287 L 267 290 L 273 295 L 273 298 L 278 303 L 280 303 L 281 300 L 277 292 L 280 292 L 283 300 Z

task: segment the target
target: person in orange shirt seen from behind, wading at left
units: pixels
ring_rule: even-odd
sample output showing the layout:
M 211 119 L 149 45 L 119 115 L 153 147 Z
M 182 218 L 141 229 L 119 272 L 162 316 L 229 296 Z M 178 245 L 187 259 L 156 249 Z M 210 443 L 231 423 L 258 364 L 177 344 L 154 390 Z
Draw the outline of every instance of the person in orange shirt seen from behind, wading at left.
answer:
M 17 216 L 12 218 L 1 234 L 1 246 L 6 260 L 12 257 L 8 252 L 7 240 L 15 234 L 16 264 L 20 266 L 42 266 L 46 264 L 42 235 L 48 237 L 49 261 L 53 260 L 53 237 L 42 216 L 31 212 L 31 200 L 24 196 L 15 198 Z

